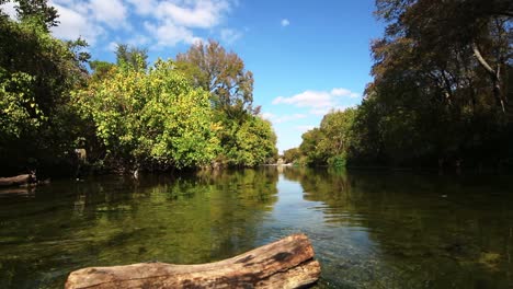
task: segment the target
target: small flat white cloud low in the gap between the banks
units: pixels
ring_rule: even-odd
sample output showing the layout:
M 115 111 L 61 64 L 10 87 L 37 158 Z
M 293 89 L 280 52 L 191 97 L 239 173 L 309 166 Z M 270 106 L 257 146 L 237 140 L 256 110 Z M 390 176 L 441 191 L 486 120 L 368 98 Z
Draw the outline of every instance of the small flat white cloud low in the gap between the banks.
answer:
M 310 108 L 310 114 L 324 115 L 330 109 L 345 109 L 351 105 L 342 105 L 343 99 L 360 97 L 358 93 L 346 89 L 335 88 L 331 91 L 305 91 L 299 94 L 285 97 L 278 96 L 273 100 L 273 104 L 289 104 L 297 107 Z

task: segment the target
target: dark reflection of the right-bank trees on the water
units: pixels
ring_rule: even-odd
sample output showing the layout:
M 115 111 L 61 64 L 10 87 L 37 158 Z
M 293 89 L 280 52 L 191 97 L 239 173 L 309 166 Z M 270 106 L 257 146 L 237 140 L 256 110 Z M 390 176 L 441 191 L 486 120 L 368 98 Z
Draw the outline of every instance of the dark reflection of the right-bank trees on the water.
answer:
M 361 287 L 504 288 L 513 282 L 513 195 L 508 194 L 513 189 L 506 178 L 326 170 L 286 170 L 284 175 L 300 182 L 306 200 L 326 204 L 324 222 L 360 227 L 376 242 L 377 259 L 366 261 L 358 276 L 347 276 L 363 281 Z

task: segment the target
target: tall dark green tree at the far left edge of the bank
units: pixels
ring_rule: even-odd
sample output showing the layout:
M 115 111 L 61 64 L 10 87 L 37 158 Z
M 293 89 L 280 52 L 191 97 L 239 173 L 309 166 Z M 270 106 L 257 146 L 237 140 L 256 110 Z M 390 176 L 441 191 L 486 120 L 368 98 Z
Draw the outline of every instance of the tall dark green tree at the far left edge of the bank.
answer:
M 0 18 L 1 171 L 44 173 L 66 165 L 76 140 L 69 92 L 84 83 L 87 44 L 49 35 L 48 22 L 38 21 L 54 15 L 46 1 L 19 3 L 20 21 Z

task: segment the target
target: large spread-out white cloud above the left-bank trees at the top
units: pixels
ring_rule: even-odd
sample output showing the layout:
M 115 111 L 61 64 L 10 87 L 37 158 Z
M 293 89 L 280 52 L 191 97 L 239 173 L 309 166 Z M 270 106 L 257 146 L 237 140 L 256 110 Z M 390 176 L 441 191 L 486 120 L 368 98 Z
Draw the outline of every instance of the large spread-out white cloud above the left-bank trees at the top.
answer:
M 218 28 L 238 4 L 237 0 L 50 0 L 49 3 L 60 15 L 60 25 L 52 28 L 54 35 L 65 39 L 82 36 L 92 46 L 102 39 L 115 39 L 160 49 L 203 41 L 200 33 L 219 35 L 227 44 L 242 36 L 237 30 Z M 14 11 L 12 4 L 8 5 L 5 11 Z M 124 36 L 127 34 L 128 37 Z M 109 44 L 103 46 L 107 48 Z

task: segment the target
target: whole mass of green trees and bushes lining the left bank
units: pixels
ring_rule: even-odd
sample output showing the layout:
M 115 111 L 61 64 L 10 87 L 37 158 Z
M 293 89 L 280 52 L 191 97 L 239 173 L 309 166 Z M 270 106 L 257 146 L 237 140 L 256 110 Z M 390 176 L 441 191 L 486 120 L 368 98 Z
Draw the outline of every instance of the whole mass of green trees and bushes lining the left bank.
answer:
M 0 10 L 0 174 L 69 173 L 76 149 L 99 170 L 276 159 L 272 126 L 252 107 L 251 71 L 217 42 L 193 45 L 176 62 L 149 65 L 145 49 L 123 44 L 116 63 L 90 61 L 83 39 L 50 35 L 58 15 L 45 0 L 14 2 L 18 20 Z

